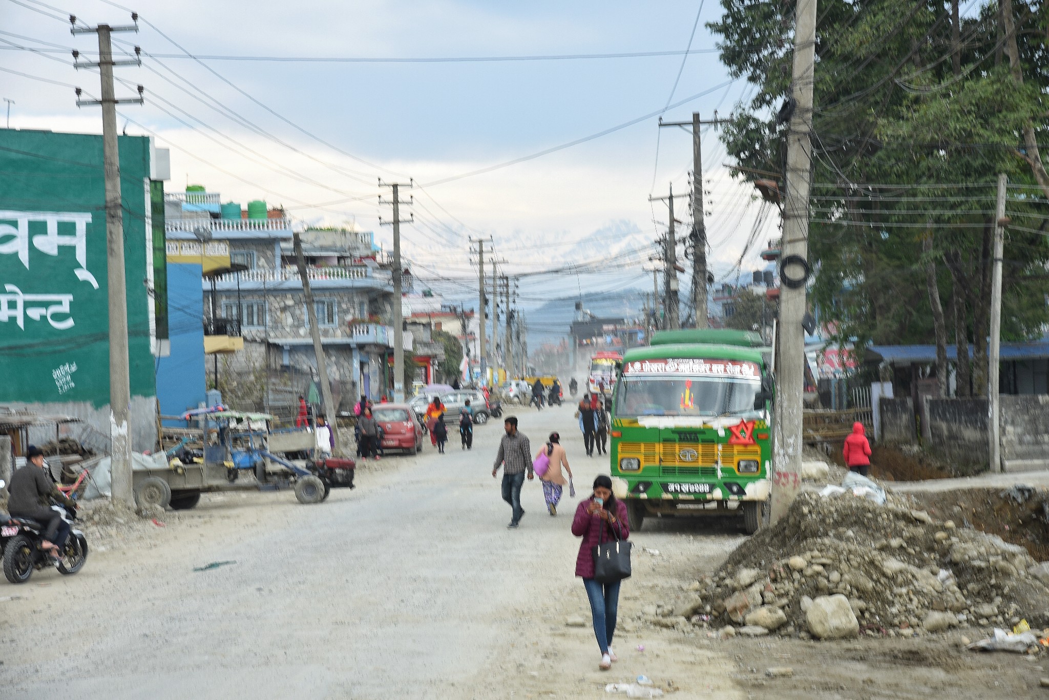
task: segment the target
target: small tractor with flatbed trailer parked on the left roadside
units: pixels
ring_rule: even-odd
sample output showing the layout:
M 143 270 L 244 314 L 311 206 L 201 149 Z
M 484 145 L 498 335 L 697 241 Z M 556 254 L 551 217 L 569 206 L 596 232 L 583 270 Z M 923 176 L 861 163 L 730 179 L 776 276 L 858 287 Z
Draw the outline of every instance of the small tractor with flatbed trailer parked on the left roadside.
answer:
M 140 508 L 185 510 L 205 492 L 262 488 L 293 488 L 299 503 L 313 504 L 327 499 L 333 485 L 352 486 L 352 473 L 342 472 L 351 472 L 355 462 L 320 458 L 314 431 L 274 430 L 276 417 L 269 413 L 220 410 L 196 418 L 201 450 L 183 445 L 165 455 L 166 466 L 136 465 L 132 486 Z M 288 453 L 306 459 L 288 459 Z

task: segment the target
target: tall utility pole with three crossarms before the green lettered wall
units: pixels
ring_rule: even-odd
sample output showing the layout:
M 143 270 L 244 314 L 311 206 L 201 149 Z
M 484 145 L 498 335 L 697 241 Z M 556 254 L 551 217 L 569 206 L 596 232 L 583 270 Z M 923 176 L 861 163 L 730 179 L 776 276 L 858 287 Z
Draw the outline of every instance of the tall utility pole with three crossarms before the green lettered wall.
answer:
M 143 103 L 143 87 L 138 86 L 138 97 L 117 100 L 113 91 L 113 67 L 117 65 L 142 65 L 141 59 L 113 61 L 113 31 L 137 31 L 138 16 L 131 14 L 135 23 L 127 26 L 100 24 L 94 28 L 78 28 L 77 18 L 69 18 L 71 34 L 99 35 L 99 62 L 76 61 L 79 51 L 73 51 L 74 63 L 81 66 L 97 66 L 102 76 L 102 99 L 80 100 L 81 89 L 77 88 L 77 106 L 102 107 L 102 157 L 106 178 L 106 282 L 109 303 L 109 438 L 111 442 L 110 481 L 112 497 L 134 507 L 131 485 L 131 434 L 128 419 L 131 407 L 131 378 L 128 367 L 128 304 L 127 280 L 124 269 L 124 210 L 121 199 L 120 147 L 116 142 L 116 105 Z M 138 47 L 135 47 L 138 54 Z M 149 206 L 149 203 L 146 203 Z

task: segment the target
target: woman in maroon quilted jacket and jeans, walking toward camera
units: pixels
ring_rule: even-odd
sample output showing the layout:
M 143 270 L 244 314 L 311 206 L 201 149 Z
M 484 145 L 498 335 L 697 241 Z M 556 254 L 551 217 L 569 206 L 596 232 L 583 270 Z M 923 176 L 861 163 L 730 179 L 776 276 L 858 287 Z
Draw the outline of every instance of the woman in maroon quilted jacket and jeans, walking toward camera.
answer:
M 572 534 L 582 537 L 576 557 L 576 576 L 581 576 L 594 617 L 594 636 L 601 648 L 599 667 L 607 671 L 618 661 L 612 651 L 612 635 L 616 632 L 616 611 L 619 608 L 619 584 L 602 584 L 594 578 L 594 548 L 598 542 L 626 539 L 630 534 L 626 523 L 626 505 L 612 494 L 612 479 L 601 474 L 594 480 L 594 494 L 579 503 L 572 521 Z

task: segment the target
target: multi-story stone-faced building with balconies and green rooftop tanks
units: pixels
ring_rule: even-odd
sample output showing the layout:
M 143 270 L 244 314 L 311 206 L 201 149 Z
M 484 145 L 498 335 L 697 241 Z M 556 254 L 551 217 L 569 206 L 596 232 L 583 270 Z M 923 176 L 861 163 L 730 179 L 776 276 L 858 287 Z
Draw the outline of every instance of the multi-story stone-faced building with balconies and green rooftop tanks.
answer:
M 242 210 L 189 190 L 167 196 L 169 250 L 224 243 L 231 263 L 206 268 L 202 280 L 206 347 L 221 355 L 209 359 L 209 385 L 217 373 L 227 403 L 280 412 L 317 381 L 292 221 L 263 201 Z M 336 404 L 391 394 L 393 285 L 372 234 L 305 229 L 300 237 Z

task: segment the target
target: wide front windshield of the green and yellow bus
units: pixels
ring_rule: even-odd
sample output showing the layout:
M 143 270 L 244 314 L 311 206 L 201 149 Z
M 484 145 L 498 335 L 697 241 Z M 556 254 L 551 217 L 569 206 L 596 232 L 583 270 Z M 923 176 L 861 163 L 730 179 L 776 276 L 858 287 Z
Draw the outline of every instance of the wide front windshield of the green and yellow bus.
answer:
M 761 381 L 712 377 L 623 377 L 616 397 L 617 418 L 641 416 L 756 417 Z

